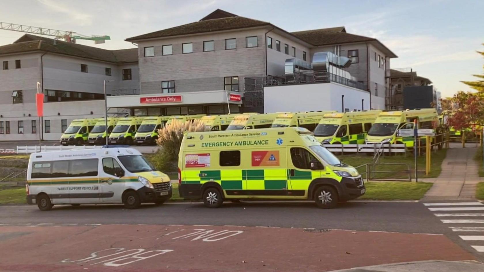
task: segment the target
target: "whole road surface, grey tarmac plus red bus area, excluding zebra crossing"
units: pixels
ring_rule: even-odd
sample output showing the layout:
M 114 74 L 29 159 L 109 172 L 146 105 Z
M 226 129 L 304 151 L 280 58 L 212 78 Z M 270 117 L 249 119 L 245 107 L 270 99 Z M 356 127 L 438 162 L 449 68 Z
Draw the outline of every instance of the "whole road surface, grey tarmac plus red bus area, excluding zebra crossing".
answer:
M 7 260 L 0 271 L 7 272 L 331 271 L 482 260 L 423 203 L 364 201 L 333 210 L 311 202 L 54 206 L 49 212 L 5 205 L 0 256 Z

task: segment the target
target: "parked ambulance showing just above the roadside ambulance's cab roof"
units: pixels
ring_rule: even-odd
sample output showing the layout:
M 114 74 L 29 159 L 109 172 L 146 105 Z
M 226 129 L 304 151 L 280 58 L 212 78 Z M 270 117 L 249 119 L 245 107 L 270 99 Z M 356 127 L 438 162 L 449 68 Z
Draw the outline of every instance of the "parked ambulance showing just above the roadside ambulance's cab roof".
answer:
M 295 113 L 281 113 L 272 122 L 271 127 L 304 127 L 309 131 L 313 131 L 318 125 L 319 121 L 327 113 L 336 111 L 314 111 L 314 112 L 295 112 Z

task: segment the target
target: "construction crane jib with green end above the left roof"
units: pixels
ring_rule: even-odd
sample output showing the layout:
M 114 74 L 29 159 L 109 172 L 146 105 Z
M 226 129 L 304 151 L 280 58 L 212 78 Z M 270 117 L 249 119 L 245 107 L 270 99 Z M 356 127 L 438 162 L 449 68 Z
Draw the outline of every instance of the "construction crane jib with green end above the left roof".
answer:
M 76 40 L 91 40 L 91 41 L 94 41 L 94 44 L 97 45 L 97 44 L 104 44 L 106 40 L 111 40 L 111 37 L 106 35 L 86 36 L 86 35 L 76 33 L 74 31 L 53 30 L 53 29 L 17 25 L 12 23 L 5 23 L 5 22 L 0 22 L 0 30 L 12 30 L 12 31 L 18 31 L 18 32 L 54 36 L 58 39 L 64 39 L 64 41 L 70 42 L 70 43 L 76 43 Z

